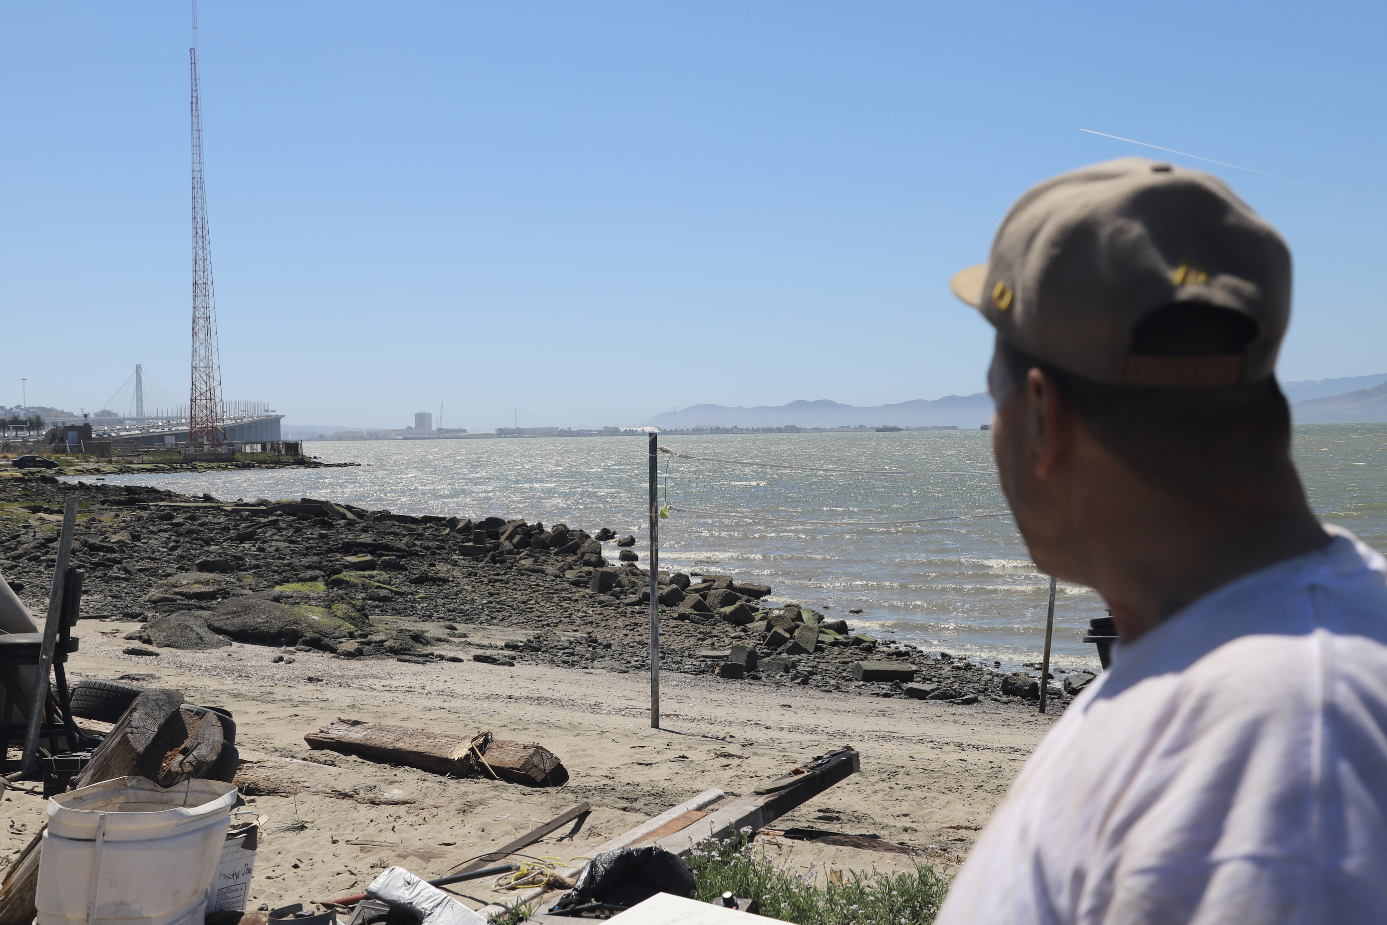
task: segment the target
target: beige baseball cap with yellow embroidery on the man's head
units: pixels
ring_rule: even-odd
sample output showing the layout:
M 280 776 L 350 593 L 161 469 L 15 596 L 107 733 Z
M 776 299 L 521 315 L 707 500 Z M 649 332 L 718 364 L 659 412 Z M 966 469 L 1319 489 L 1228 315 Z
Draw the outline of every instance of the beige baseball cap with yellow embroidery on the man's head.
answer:
M 1215 388 L 1272 374 L 1290 320 L 1291 258 L 1218 178 L 1122 158 L 1028 190 L 990 259 L 950 288 L 1013 347 L 1067 372 L 1111 386 Z M 1133 354 L 1143 319 L 1182 304 L 1230 309 L 1257 333 L 1239 354 Z

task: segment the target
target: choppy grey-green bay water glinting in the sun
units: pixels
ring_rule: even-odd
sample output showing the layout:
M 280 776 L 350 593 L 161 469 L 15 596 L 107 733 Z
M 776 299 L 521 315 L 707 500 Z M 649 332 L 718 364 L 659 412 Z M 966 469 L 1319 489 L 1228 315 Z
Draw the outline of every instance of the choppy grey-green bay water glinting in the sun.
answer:
M 804 520 L 895 521 L 1006 512 L 985 431 L 669 437 L 691 456 L 799 466 L 976 474 L 881 476 L 756 469 L 662 456 L 662 499 L 675 508 Z M 395 513 L 524 517 L 646 544 L 646 441 L 638 437 L 312 442 L 325 462 L 361 467 L 125 476 L 218 498 L 331 498 Z M 1315 510 L 1387 551 L 1387 424 L 1305 424 L 1295 458 Z M 897 639 L 1006 666 L 1039 656 L 1049 578 L 1010 516 L 854 527 L 674 513 L 662 567 L 755 576 L 774 599 L 802 600 Z M 1080 642 L 1101 600 L 1060 585 L 1054 662 L 1096 666 Z

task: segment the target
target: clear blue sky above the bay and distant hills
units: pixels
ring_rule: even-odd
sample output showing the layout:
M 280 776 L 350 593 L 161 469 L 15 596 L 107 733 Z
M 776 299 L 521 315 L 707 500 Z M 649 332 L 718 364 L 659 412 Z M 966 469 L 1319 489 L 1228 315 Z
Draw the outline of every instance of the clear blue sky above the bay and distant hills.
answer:
M 983 388 L 947 290 L 1108 132 L 1289 239 L 1283 380 L 1387 369 L 1381 3 L 200 6 L 225 394 L 641 423 Z M 186 3 L 0 6 L 0 404 L 186 394 Z M 1176 162 L 1198 161 L 1169 155 Z

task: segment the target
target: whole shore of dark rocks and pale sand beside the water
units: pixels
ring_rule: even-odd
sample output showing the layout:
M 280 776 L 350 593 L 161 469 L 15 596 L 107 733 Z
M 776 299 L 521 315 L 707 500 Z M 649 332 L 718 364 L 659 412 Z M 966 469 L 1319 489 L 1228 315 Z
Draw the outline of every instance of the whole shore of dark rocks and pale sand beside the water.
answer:
M 662 631 L 662 728 L 652 729 L 648 607 L 614 596 L 616 581 L 634 585 L 641 573 L 608 564 L 602 542 L 577 528 L 565 552 L 542 548 L 544 537 L 562 537 L 558 527 L 488 524 L 508 537 L 498 541 L 488 526 L 442 517 L 322 516 L 309 499 L 272 510 L 33 476 L 3 480 L 0 491 L 0 567 L 36 616 L 61 503 L 85 505 L 74 562 L 89 578 L 69 682 L 173 688 L 233 714 L 247 809 L 265 827 L 250 908 L 359 893 L 391 864 L 441 876 L 587 802 L 577 827 L 524 851 L 581 864 L 587 850 L 702 790 L 743 796 L 845 745 L 860 752 L 860 772 L 774 822 L 820 835 L 771 835 L 766 850 L 814 870 L 947 870 L 1068 700 L 1056 684 L 1051 714 L 1037 716 L 1033 700 L 1003 692 L 1014 675 L 990 666 L 832 631 L 816 642 L 806 628 L 831 621 L 807 606 L 760 609 L 756 585 L 725 582 L 706 598 L 730 606 L 680 612 L 702 603 L 696 589 L 710 581 L 682 596 L 662 576 L 662 599 L 680 599 L 671 610 L 682 619 Z M 535 548 L 515 548 L 522 537 Z M 343 566 L 363 556 L 376 570 Z M 613 594 L 596 589 L 594 573 L 614 576 L 605 580 Z M 305 614 L 336 630 L 304 630 Z M 793 630 L 791 642 L 775 641 L 775 620 Z M 714 670 L 727 650 L 705 657 L 710 645 L 760 646 L 768 663 L 796 641 L 813 650 L 791 659 L 795 671 L 730 678 Z M 918 684 L 853 681 L 864 659 Z M 942 699 L 918 699 L 911 686 Z M 458 779 L 311 750 L 304 735 L 338 717 L 540 743 L 569 781 Z M 31 789 L 6 793 L 7 860 L 43 824 L 44 800 Z M 294 820 L 302 825 L 284 828 Z M 834 843 L 843 835 L 884 850 Z M 505 897 L 490 881 L 465 886 L 477 907 Z

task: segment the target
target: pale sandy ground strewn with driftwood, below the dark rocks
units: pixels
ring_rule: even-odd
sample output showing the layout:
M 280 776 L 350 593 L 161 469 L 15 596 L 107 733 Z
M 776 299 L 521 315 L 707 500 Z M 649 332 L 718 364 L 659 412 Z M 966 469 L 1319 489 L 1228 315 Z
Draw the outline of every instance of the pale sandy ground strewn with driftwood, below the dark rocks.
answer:
M 234 643 L 128 656 L 136 623 L 83 621 L 69 678 L 129 678 L 223 706 L 244 771 L 287 781 L 295 796 L 255 796 L 265 827 L 248 908 L 361 893 L 391 864 L 426 878 L 494 850 L 578 802 L 592 813 L 527 854 L 563 861 L 709 788 L 749 793 L 799 761 L 852 745 L 861 771 L 775 822 L 877 835 L 940 865 L 967 854 L 1021 761 L 1051 720 L 1015 707 L 849 696 L 813 688 L 728 685 L 666 674 L 662 728 L 649 724 L 649 677 L 477 662 L 413 666 Z M 484 631 L 483 631 L 484 632 Z M 494 631 L 501 639 L 502 630 Z M 294 662 L 273 663 L 277 655 Z M 570 772 L 562 788 L 445 778 L 309 750 L 304 734 L 337 717 L 538 742 Z M 255 759 L 257 756 L 250 756 Z M 293 759 L 298 759 L 297 761 Z M 302 760 L 330 764 L 304 763 Z M 33 785 L 21 785 L 33 786 Z M 4 796 L 8 863 L 42 827 L 44 800 Z M 247 817 L 248 818 L 248 817 Z M 282 827 L 300 820 L 305 828 Z M 297 825 L 295 825 L 297 828 Z M 785 864 L 899 870 L 907 854 L 773 838 Z M 576 860 L 581 864 L 581 860 Z M 469 906 L 503 897 L 491 881 L 455 888 Z

